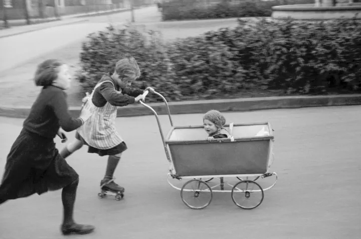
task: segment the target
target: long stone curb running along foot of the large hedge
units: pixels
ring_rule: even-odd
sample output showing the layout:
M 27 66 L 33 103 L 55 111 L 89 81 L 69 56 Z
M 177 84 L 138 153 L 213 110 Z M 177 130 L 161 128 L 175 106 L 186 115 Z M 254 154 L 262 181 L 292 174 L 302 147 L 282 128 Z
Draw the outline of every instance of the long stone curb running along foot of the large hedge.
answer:
M 361 94 L 349 95 L 326 95 L 326 96 L 277 96 L 277 97 L 257 97 L 240 99 L 216 99 L 169 102 L 171 114 L 180 113 L 205 113 L 210 109 L 219 111 L 252 111 L 262 109 L 277 108 L 301 108 L 319 106 L 340 106 L 361 104 Z M 164 103 L 149 103 L 157 114 L 167 114 Z M 79 116 L 80 107 L 70 107 L 72 116 Z M 26 106 L 0 106 L 0 116 L 26 118 L 30 112 L 30 107 Z M 117 117 L 140 116 L 153 114 L 143 105 L 128 105 L 118 107 Z

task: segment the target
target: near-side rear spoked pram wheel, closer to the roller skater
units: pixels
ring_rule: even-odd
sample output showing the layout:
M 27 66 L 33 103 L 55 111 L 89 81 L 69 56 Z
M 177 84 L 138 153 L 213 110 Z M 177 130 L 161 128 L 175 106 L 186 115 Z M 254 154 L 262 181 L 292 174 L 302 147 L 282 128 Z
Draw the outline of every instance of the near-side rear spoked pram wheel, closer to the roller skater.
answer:
M 183 185 L 180 197 L 188 207 L 202 209 L 211 203 L 213 194 L 211 187 L 205 181 L 193 179 Z

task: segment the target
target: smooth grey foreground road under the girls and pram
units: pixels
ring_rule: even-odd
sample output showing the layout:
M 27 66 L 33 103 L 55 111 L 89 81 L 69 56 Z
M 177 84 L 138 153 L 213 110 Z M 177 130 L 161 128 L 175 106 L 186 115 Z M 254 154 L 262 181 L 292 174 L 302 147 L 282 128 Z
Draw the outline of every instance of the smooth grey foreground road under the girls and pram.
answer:
M 228 121 L 269 121 L 275 129 L 276 160 L 271 169 L 278 173 L 279 181 L 253 210 L 236 207 L 228 193 L 215 194 L 203 210 L 186 207 L 179 191 L 166 182 L 168 166 L 155 118 L 117 118 L 117 127 L 129 146 L 115 175 L 126 188 L 125 198 L 97 197 L 106 158 L 87 154 L 85 148 L 71 156 L 68 162 L 81 175 L 76 219 L 97 226 L 94 234 L 74 238 L 359 238 L 360 109 L 340 106 L 225 113 Z M 160 118 L 167 132 L 167 117 Z M 173 120 L 176 125 L 199 125 L 202 114 L 174 115 Z M 22 122 L 0 118 L 0 170 Z M 59 140 L 57 143 L 64 147 Z M 0 207 L 0 238 L 62 238 L 61 218 L 60 191 L 10 201 Z

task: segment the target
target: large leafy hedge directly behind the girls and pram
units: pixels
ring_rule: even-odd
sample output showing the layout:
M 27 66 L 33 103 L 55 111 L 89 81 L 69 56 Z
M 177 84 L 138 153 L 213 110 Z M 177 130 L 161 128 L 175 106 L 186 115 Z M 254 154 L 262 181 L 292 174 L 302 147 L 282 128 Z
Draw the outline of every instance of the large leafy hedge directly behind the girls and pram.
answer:
M 141 77 L 137 87 L 153 86 L 170 101 L 232 97 L 239 92 L 280 90 L 284 94 L 359 92 L 360 21 L 238 20 L 199 37 L 163 43 L 158 33 L 131 26 L 92 34 L 83 43 L 83 93 L 117 59 L 132 55 Z M 150 95 L 150 101 L 158 97 Z

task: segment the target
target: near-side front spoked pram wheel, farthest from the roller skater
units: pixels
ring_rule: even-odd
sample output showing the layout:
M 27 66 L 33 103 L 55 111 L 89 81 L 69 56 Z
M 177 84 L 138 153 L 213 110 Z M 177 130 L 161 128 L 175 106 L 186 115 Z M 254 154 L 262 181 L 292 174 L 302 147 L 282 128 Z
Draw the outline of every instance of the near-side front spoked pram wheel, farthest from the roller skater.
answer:
M 262 187 L 252 180 L 242 180 L 232 188 L 233 202 L 243 209 L 258 207 L 262 203 L 263 197 Z

